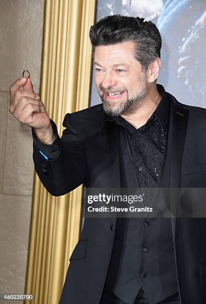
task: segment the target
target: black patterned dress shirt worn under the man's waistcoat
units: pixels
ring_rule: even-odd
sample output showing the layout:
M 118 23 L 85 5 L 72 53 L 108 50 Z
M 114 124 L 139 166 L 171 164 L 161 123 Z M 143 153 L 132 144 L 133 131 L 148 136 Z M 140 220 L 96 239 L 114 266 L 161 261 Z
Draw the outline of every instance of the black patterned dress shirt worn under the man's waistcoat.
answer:
M 131 150 L 131 163 L 135 167 L 139 186 L 155 188 L 161 172 L 168 131 L 169 104 L 164 94 L 146 124 L 136 129 L 123 117 L 116 123 L 124 127 Z

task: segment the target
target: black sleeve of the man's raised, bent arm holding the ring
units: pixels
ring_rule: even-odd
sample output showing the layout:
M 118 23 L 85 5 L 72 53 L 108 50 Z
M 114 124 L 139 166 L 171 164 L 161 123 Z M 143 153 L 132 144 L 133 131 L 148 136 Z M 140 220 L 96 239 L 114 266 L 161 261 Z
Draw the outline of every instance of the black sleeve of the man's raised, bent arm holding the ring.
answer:
M 49 193 L 64 195 L 85 182 L 86 160 L 81 140 L 70 123 L 70 113 L 64 117 L 62 137 L 51 120 L 56 139 L 45 145 L 33 135 L 33 160 L 35 170 Z M 43 153 L 42 153 L 43 152 Z M 45 154 L 45 156 L 43 155 Z

